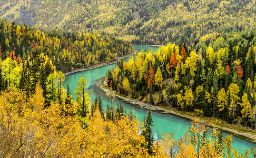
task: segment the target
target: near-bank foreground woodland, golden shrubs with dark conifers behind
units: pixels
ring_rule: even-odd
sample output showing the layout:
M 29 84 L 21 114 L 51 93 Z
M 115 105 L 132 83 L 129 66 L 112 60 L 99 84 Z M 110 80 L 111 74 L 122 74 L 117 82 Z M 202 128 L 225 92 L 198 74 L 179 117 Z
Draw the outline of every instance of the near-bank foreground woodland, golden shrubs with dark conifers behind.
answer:
M 34 48 L 29 54 L 34 54 Z M 212 123 L 193 121 L 180 140 L 173 133 L 154 140 L 151 112 L 142 123 L 121 105 L 94 102 L 84 77 L 76 99 L 63 86 L 65 76 L 45 54 L 27 60 L 14 51 L 0 64 L 1 157 L 249 157 L 232 148 L 232 135 L 223 137 Z M 210 128 L 213 126 L 214 128 Z M 203 135 L 201 135 L 203 133 Z M 156 142 L 155 142 L 156 141 Z

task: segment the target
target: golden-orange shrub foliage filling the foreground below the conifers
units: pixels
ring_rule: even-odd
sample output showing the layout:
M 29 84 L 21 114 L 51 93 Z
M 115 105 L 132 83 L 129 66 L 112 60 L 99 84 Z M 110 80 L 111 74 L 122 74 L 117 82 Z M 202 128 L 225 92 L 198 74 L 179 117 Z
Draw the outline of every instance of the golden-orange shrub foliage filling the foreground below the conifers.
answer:
M 58 103 L 44 108 L 43 90 L 39 84 L 35 94 L 28 97 L 16 88 L 9 87 L 0 96 L 0 143 L 4 144 L 0 146 L 0 156 L 241 156 L 232 148 L 232 136 L 222 137 L 213 124 L 200 123 L 198 120 L 194 120 L 190 127 L 191 137 L 186 134 L 175 141 L 172 133 L 164 133 L 162 141 L 157 140 L 152 144 L 153 154 L 149 155 L 145 148 L 145 137 L 140 134 L 139 121 L 127 115 L 119 119 L 116 117 L 114 122 L 104 121 L 99 107 L 96 105 L 95 108 L 91 120 L 81 124 L 77 115 L 63 115 Z M 213 126 L 212 130 L 210 126 Z

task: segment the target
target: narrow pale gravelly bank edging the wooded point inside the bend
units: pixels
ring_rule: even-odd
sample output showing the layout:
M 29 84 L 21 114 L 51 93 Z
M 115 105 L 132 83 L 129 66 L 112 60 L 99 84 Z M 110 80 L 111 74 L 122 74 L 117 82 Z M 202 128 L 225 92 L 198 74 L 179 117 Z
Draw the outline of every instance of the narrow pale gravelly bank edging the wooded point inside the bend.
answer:
M 111 88 L 107 87 L 107 83 L 104 80 L 99 82 L 99 84 L 97 86 L 99 88 L 101 88 L 101 90 L 104 91 L 106 93 L 106 95 L 109 95 L 109 96 L 112 95 L 114 97 L 119 97 L 124 102 L 132 104 L 134 106 L 137 106 L 137 107 L 140 107 L 140 108 L 144 108 L 144 109 L 151 109 L 152 111 L 156 111 L 156 112 L 160 112 L 160 113 L 167 113 L 167 114 L 178 115 L 180 117 L 188 118 L 189 120 L 192 120 L 193 118 L 197 118 L 197 119 L 200 120 L 200 122 L 204 122 L 204 120 L 202 120 L 202 118 L 196 117 L 194 115 L 194 113 L 191 113 L 190 115 L 188 113 L 183 114 L 183 113 L 174 111 L 174 109 L 173 110 L 168 110 L 166 108 L 155 106 L 155 105 L 152 105 L 150 103 L 144 103 L 142 101 L 133 100 L 133 99 L 130 99 L 130 98 L 127 98 L 127 97 L 120 96 L 120 95 L 114 93 Z M 208 121 L 211 121 L 211 120 L 208 120 Z M 228 125 L 230 125 L 230 124 L 227 124 L 225 126 L 228 126 Z M 219 129 L 223 130 L 223 131 L 229 132 L 229 133 L 237 135 L 238 137 L 241 137 L 241 138 L 243 138 L 245 140 L 248 140 L 248 141 L 251 141 L 253 143 L 256 143 L 256 134 L 251 134 L 251 133 L 248 133 L 248 132 L 240 132 L 240 131 L 237 131 L 235 129 L 230 129 L 230 128 L 222 126 L 222 125 L 216 125 L 216 126 Z

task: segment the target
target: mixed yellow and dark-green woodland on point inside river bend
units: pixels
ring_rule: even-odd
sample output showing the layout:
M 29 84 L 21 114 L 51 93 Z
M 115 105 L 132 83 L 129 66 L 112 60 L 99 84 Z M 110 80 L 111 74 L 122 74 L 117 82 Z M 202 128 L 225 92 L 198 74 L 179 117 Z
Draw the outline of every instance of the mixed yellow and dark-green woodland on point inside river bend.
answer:
M 168 44 L 140 52 L 107 73 L 118 93 L 154 105 L 195 112 L 255 129 L 254 29 L 201 38 L 196 50 Z

